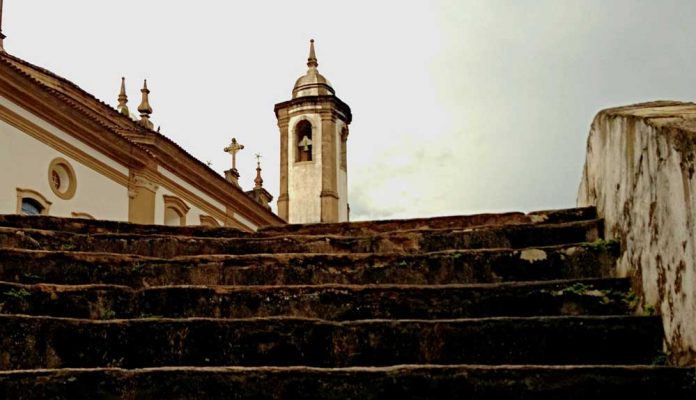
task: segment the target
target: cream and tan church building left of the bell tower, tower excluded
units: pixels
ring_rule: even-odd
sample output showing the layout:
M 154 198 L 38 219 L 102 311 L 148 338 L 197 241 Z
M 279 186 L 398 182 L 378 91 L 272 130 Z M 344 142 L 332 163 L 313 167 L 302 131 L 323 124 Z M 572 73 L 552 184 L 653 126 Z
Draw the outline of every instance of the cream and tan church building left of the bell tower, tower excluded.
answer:
M 113 108 L 0 39 L 0 214 L 245 231 L 285 223 L 263 204 L 265 189 L 245 193 L 153 129 L 149 93 L 145 82 L 134 120 L 123 82 Z

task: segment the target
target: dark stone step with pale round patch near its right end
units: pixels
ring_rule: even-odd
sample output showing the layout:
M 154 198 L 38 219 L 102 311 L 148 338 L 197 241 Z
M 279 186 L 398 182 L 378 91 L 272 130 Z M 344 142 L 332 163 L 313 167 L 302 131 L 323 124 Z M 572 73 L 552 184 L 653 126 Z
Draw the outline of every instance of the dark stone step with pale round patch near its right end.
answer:
M 615 249 L 570 245 L 425 254 L 140 256 L 0 248 L 0 280 L 168 285 L 454 284 L 611 277 Z

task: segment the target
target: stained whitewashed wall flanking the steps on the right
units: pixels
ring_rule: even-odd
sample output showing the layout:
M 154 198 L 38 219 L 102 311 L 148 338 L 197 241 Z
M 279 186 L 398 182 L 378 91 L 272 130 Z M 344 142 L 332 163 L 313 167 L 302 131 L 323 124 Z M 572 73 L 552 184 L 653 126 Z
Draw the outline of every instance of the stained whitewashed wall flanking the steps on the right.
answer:
M 621 241 L 644 312 L 662 315 L 666 352 L 696 364 L 696 104 L 653 102 L 594 119 L 578 205 L 597 207 Z

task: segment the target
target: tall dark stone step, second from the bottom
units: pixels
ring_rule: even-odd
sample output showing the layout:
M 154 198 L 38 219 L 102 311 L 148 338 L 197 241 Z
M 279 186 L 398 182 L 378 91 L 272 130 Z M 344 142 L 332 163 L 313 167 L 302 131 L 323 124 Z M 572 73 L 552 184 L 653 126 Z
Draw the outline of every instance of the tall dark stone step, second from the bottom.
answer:
M 660 317 L 330 322 L 301 318 L 93 321 L 0 315 L 0 370 L 158 366 L 649 364 Z

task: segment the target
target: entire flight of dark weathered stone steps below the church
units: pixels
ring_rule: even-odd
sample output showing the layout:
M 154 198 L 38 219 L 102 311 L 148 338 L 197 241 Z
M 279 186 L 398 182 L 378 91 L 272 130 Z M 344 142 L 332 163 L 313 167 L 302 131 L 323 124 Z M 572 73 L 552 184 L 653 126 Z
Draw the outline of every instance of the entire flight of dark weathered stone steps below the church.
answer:
M 0 216 L 0 398 L 696 398 L 601 228 Z

